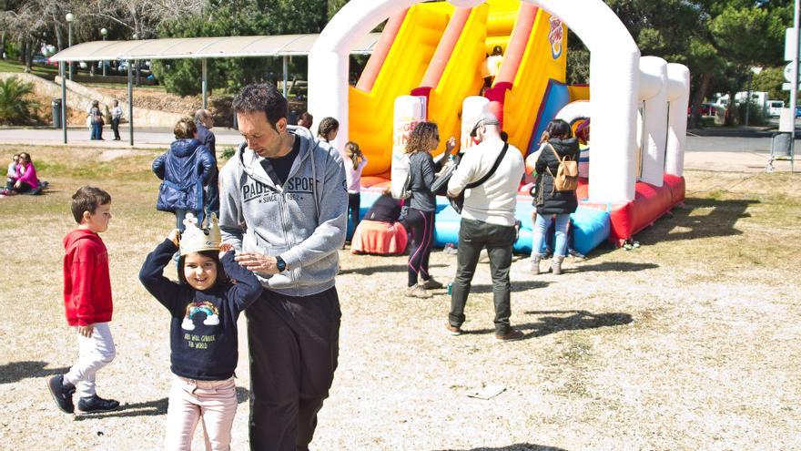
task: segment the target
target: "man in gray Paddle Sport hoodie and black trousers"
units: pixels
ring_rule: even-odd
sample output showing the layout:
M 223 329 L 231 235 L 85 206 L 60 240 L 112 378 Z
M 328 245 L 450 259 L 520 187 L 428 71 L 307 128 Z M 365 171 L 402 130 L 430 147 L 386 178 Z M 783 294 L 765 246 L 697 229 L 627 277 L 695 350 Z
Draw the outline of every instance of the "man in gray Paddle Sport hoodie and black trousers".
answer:
M 219 226 L 265 287 L 246 312 L 250 449 L 305 450 L 339 355 L 345 169 L 336 149 L 287 124 L 275 87 L 245 87 L 234 110 L 246 142 L 219 174 Z

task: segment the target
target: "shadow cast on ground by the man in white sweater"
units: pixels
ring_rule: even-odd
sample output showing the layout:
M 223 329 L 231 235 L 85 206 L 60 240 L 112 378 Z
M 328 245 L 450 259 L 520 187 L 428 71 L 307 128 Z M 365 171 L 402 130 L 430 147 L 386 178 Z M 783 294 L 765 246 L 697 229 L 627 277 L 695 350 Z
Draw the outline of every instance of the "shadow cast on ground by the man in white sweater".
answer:
M 628 313 L 590 313 L 586 310 L 533 311 L 524 314 L 545 316 L 541 316 L 533 323 L 512 324 L 515 329 L 524 333 L 523 340 L 563 331 L 614 327 L 634 321 L 632 315 Z M 464 333 L 495 333 L 495 330 L 480 329 Z

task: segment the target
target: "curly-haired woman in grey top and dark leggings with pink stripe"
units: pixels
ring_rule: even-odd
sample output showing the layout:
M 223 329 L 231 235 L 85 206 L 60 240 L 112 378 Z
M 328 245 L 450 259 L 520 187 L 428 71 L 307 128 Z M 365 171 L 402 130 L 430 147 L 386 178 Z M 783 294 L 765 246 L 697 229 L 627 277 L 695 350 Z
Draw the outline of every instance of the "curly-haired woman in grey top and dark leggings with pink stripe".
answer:
M 437 202 L 431 185 L 441 165 L 434 164 L 431 151 L 440 144 L 440 131 L 433 122 L 420 122 L 409 135 L 406 153 L 409 155 L 409 175 L 411 177 L 411 198 L 405 220 L 411 231 L 411 250 L 409 253 L 409 283 L 406 295 L 414 298 L 430 298 L 431 292 L 442 288 L 429 273 L 429 256 L 434 244 L 434 213 Z M 448 139 L 447 152 L 456 147 L 456 139 Z M 439 166 L 439 167 L 438 167 Z M 422 283 L 418 283 L 418 274 Z

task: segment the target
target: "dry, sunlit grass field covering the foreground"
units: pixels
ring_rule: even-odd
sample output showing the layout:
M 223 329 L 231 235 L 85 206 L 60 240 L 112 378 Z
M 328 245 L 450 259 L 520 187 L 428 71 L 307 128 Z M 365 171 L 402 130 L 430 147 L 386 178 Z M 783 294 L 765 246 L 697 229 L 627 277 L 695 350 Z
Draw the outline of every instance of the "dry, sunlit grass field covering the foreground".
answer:
M 0 145 L 0 154 L 13 153 Z M 103 161 L 99 149 L 30 148 L 51 189 L 0 200 L 0 448 L 160 449 L 170 379 L 168 316 L 137 281 L 173 224 L 155 211 L 156 151 Z M 801 177 L 689 171 L 684 207 L 638 234 L 634 251 L 568 260 L 562 276 L 512 267 L 516 343 L 492 339 L 492 284 L 480 265 L 469 331 L 444 331 L 450 298 L 402 296 L 405 258 L 340 251 L 340 367 L 316 450 L 801 449 Z M 76 339 L 61 301 L 67 200 L 111 192 L 117 359 L 105 415 L 65 415 L 46 377 Z M 431 256 L 447 282 L 455 257 Z M 245 322 L 240 322 L 244 337 Z M 247 448 L 247 343 L 239 343 L 233 449 Z M 491 399 L 474 398 L 501 385 Z M 196 449 L 201 449 L 200 442 Z

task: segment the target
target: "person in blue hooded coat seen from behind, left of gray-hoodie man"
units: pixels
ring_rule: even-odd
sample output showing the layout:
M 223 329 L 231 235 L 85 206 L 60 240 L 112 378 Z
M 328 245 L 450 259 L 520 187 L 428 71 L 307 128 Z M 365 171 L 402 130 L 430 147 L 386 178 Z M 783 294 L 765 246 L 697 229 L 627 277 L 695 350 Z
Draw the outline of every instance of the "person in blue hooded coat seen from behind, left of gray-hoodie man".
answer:
M 203 189 L 216 174 L 214 157 L 198 141 L 192 118 L 182 118 L 173 129 L 176 140 L 153 161 L 153 172 L 164 180 L 158 190 L 156 209 L 176 215 L 176 228 L 184 231 L 184 217 L 191 212 L 203 222 Z

